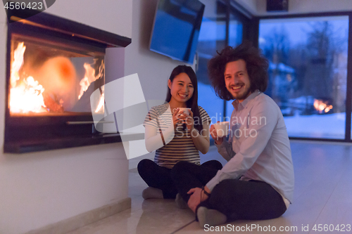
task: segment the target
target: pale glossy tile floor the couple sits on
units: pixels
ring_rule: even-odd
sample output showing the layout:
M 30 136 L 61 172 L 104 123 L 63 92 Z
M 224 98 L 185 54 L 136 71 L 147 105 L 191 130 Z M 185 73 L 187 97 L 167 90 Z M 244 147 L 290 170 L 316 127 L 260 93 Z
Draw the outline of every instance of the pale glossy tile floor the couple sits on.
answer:
M 220 231 L 216 233 L 229 230 L 235 233 L 352 233 L 352 145 L 294 141 L 291 150 L 296 187 L 294 203 L 287 212 L 278 219 L 235 221 L 218 226 L 215 230 Z M 202 162 L 210 159 L 225 162 L 215 148 L 201 157 Z M 132 208 L 70 234 L 210 233 L 199 226 L 191 210 L 177 209 L 173 200 L 143 200 L 144 188 L 146 184 L 137 169 L 130 169 Z M 322 224 L 322 231 L 313 230 L 315 224 L 317 228 Z M 324 225 L 334 229 L 339 225 L 340 230 L 324 231 Z M 245 230 L 246 227 L 253 229 Z M 280 231 L 280 227 L 287 230 Z

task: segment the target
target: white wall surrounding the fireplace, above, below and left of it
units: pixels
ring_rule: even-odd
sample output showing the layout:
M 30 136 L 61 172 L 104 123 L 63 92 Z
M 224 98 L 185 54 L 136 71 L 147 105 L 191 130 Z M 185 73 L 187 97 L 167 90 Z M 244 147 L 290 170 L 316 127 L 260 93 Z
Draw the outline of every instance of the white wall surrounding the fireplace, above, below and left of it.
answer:
M 131 36 L 130 0 L 75 0 L 75 6 L 72 2 L 57 0 L 52 11 Z M 83 11 L 91 14 L 86 17 Z M 0 30 L 0 233 L 25 233 L 127 198 L 128 161 L 122 143 L 3 153 L 7 31 L 1 9 Z

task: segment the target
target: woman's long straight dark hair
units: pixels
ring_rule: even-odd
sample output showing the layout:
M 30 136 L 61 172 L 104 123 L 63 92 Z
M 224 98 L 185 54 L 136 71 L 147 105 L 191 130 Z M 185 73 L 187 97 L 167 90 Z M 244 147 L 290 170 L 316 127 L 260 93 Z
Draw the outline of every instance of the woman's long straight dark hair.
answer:
M 170 81 L 173 82 L 174 78 L 181 73 L 186 73 L 191 79 L 192 85 L 193 85 L 193 95 L 189 100 L 187 100 L 187 108 L 191 108 L 191 111 L 193 112 L 193 119 L 194 119 L 194 128 L 197 129 L 198 131 L 201 131 L 203 129 L 203 124 L 201 121 L 201 115 L 199 113 L 198 109 L 198 84 L 197 84 L 197 77 L 196 73 L 192 69 L 192 67 L 189 67 L 187 65 L 178 65 L 177 67 L 172 70 L 170 74 Z M 165 101 L 170 102 L 171 100 L 171 91 L 170 88 L 168 87 L 168 93 L 166 94 L 166 99 Z

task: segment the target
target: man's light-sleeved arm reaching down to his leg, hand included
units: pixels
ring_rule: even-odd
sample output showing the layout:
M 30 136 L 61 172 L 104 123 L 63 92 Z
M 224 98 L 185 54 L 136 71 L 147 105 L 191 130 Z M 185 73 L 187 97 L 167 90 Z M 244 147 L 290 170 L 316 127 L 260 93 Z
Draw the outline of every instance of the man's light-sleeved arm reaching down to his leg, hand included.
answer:
M 241 176 L 253 166 L 268 144 L 272 131 L 277 124 L 277 112 L 273 108 L 275 107 L 271 103 L 266 102 L 258 102 L 257 105 L 253 106 L 250 116 L 258 119 L 261 117 L 265 119 L 265 122 L 263 120 L 261 123 L 258 122 L 249 126 L 247 134 L 251 133 L 251 135 L 244 138 L 241 142 L 236 157 L 232 157 L 214 178 L 206 184 L 209 190 L 213 190 L 224 179 Z

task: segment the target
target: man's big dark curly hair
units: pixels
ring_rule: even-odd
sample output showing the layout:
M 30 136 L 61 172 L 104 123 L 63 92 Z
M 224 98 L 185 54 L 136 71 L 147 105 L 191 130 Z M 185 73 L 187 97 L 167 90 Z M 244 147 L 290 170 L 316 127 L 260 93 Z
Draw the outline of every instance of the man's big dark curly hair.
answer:
M 240 59 L 246 62 L 246 70 L 251 82 L 251 92 L 253 93 L 256 89 L 262 92 L 266 90 L 268 86 L 268 60 L 261 55 L 258 48 L 251 46 L 249 42 L 244 42 L 236 48 L 227 46 L 218 53 L 218 56 L 210 59 L 208 63 L 210 83 L 219 98 L 234 99 L 226 89 L 224 72 L 227 63 Z

